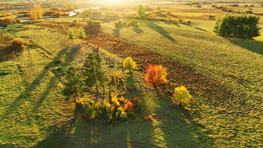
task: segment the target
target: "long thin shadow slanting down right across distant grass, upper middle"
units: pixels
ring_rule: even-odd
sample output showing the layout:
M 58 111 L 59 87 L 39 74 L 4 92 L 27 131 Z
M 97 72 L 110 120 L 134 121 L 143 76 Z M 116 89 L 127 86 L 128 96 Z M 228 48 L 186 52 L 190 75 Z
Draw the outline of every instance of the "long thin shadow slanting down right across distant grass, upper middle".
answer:
M 172 42 L 176 42 L 174 38 L 172 38 L 171 36 L 169 36 L 168 32 L 166 30 L 163 29 L 163 27 L 157 25 L 154 21 L 143 21 L 145 25 L 147 25 L 151 30 L 156 31 L 157 33 L 159 33 L 160 35 L 162 35 L 163 37 L 166 37 L 167 39 L 169 39 Z

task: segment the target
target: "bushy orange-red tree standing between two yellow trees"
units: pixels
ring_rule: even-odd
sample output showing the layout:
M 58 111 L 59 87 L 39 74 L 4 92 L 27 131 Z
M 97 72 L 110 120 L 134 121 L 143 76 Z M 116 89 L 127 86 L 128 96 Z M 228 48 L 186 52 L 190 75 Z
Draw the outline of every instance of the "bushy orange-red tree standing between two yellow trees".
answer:
M 144 79 L 147 83 L 153 84 L 153 86 L 166 83 L 166 70 L 162 65 L 150 64 L 145 68 L 146 74 L 144 75 Z

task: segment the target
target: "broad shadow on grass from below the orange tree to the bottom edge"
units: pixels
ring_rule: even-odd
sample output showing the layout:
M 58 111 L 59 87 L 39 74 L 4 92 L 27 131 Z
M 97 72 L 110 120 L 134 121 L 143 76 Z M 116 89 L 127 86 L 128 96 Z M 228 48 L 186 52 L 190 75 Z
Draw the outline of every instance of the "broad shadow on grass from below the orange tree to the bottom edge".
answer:
M 156 94 L 159 107 L 155 111 L 155 119 L 158 121 L 155 128 L 161 130 L 154 137 L 164 142 L 168 148 L 174 146 L 196 148 L 200 146 L 200 143 L 206 147 L 207 141 L 205 135 L 196 127 L 187 126 L 193 122 L 190 114 L 173 104 L 170 98 L 161 92 L 157 91 Z

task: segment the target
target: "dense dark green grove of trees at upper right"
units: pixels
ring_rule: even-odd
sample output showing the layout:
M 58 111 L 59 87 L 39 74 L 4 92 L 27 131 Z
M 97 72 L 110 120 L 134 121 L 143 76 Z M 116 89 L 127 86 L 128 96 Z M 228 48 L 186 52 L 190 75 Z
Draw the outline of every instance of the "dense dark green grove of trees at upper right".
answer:
M 251 14 L 225 14 L 216 19 L 213 31 L 222 37 L 258 37 L 261 29 L 259 19 L 259 16 Z

